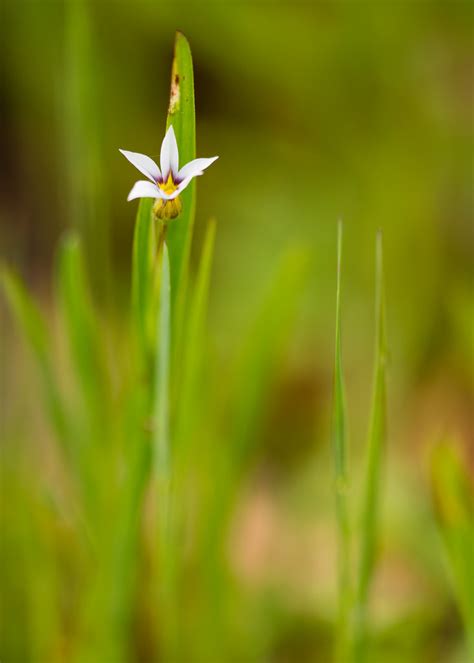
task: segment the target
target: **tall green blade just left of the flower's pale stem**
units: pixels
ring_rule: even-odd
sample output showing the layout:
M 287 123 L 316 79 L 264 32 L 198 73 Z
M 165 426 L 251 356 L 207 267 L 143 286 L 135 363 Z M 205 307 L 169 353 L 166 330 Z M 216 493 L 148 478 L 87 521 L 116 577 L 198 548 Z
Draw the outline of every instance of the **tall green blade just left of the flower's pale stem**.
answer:
M 106 572 L 102 575 L 106 577 L 99 586 L 109 626 L 102 643 L 101 657 L 111 661 L 124 660 L 130 646 L 142 501 L 152 460 L 149 421 L 153 406 L 158 311 L 156 272 L 159 264 L 152 205 L 150 199 L 140 200 L 134 229 L 131 316 L 136 363 L 130 391 L 122 403 L 123 411 L 114 431 L 122 445 L 124 467 L 121 469 L 121 488 L 115 504 L 118 517 L 108 534 L 107 550 L 104 551 Z

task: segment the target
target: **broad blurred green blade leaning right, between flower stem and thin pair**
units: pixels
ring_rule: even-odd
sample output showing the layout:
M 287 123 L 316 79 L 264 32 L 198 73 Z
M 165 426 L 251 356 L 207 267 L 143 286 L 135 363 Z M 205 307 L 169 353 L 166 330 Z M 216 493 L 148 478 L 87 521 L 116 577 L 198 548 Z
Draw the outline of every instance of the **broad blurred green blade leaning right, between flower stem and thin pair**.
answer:
M 204 454 L 202 471 L 212 477 L 203 496 L 200 544 L 203 594 L 208 607 L 198 631 L 204 635 L 202 656 L 207 660 L 226 660 L 232 655 L 235 596 L 226 556 L 229 526 L 246 471 L 256 460 L 271 385 L 287 347 L 307 265 L 308 255 L 301 249 L 288 251 L 279 261 L 256 318 L 242 339 L 229 392 L 224 396 L 217 392 L 222 419 L 216 422 L 217 430 L 204 449 L 198 450 Z M 220 375 L 221 371 L 218 390 Z M 217 639 L 215 632 L 220 633 Z

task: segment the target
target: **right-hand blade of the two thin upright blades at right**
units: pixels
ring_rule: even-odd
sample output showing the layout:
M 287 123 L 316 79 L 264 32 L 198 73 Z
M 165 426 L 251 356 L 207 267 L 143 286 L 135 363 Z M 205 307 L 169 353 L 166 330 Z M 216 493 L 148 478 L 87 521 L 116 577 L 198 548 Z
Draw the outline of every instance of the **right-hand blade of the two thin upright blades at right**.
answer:
M 355 606 L 355 658 L 366 659 L 367 607 L 369 590 L 374 573 L 377 547 L 377 516 L 380 504 L 380 479 L 382 452 L 386 438 L 386 363 L 385 301 L 382 262 L 382 235 L 376 245 L 376 294 L 375 294 L 375 367 L 372 389 L 372 408 L 367 439 L 367 466 L 364 479 L 362 505 L 361 550 L 358 569 Z

